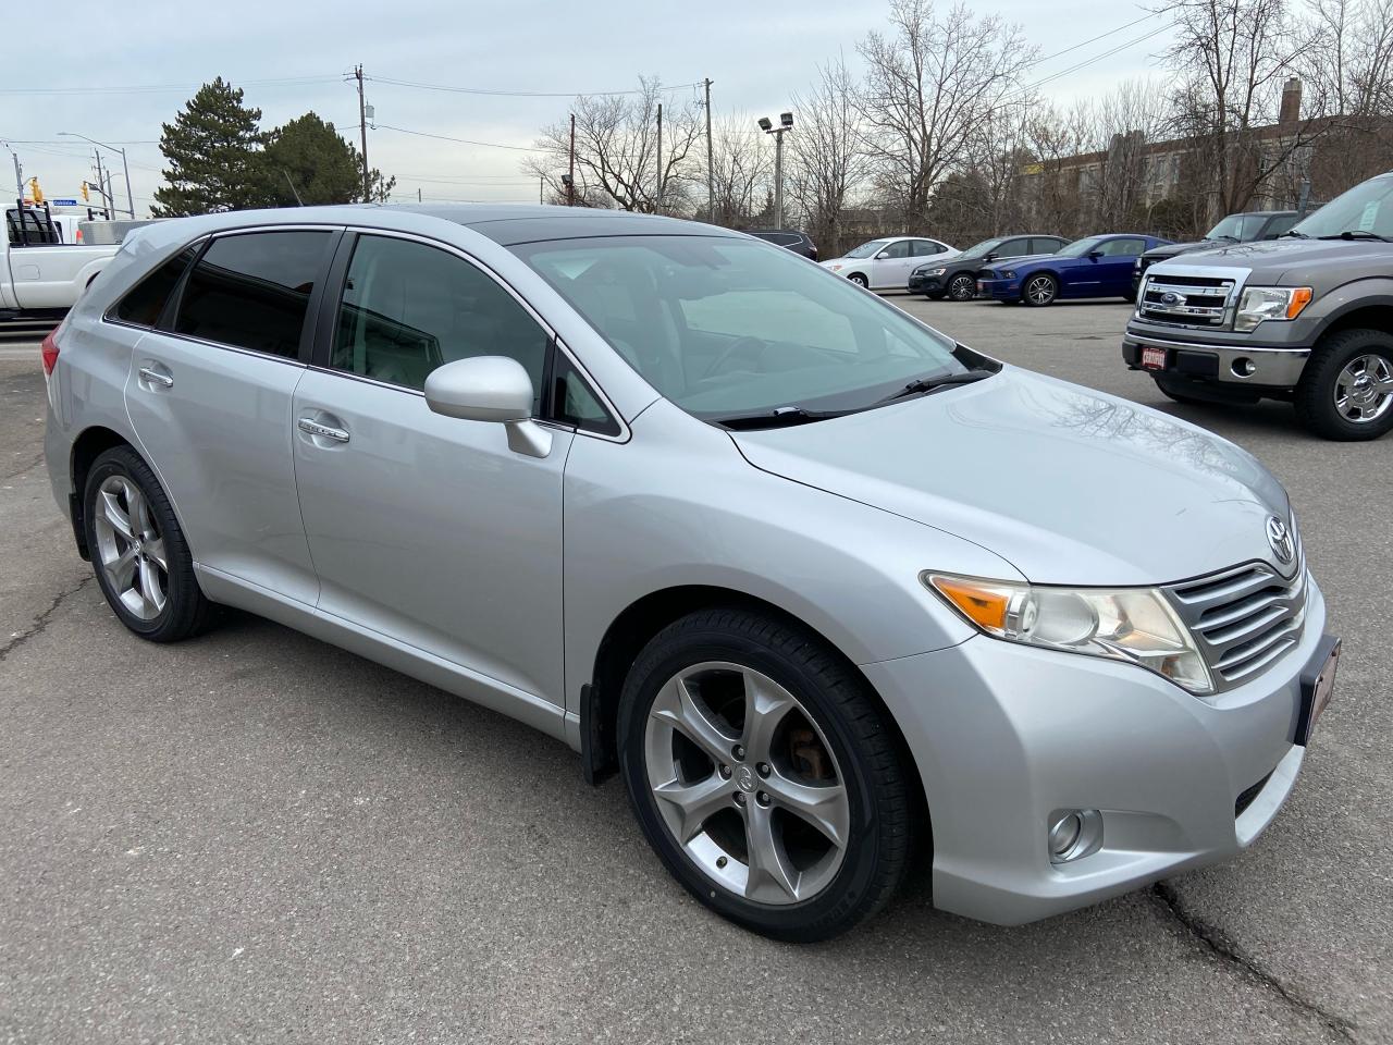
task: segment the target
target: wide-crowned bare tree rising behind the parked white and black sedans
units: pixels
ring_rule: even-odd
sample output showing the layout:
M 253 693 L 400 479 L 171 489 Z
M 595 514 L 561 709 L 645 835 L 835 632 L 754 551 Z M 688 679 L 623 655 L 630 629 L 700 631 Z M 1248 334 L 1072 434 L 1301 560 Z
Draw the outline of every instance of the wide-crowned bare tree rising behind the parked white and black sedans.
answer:
M 981 121 L 1021 93 L 1035 47 L 1017 26 L 965 3 L 940 17 L 933 0 L 890 0 L 890 26 L 859 46 L 865 141 L 880 191 L 897 198 L 908 226 L 924 220 Z

